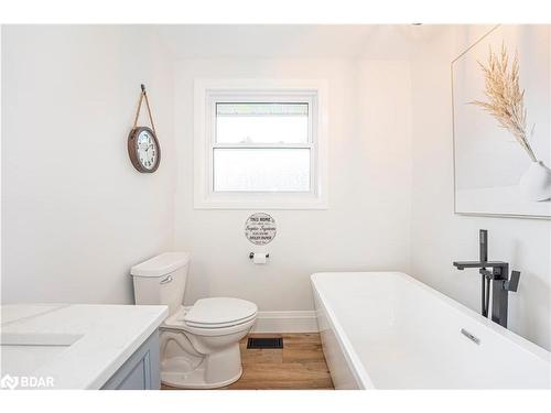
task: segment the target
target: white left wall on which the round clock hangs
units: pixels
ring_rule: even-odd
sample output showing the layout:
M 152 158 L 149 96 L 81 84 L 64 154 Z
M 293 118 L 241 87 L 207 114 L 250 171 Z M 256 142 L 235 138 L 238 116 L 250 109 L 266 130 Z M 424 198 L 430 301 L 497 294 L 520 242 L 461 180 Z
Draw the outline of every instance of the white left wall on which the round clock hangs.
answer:
M 132 303 L 130 265 L 173 243 L 171 69 L 148 28 L 2 28 L 3 302 Z M 152 175 L 126 146 L 140 83 Z

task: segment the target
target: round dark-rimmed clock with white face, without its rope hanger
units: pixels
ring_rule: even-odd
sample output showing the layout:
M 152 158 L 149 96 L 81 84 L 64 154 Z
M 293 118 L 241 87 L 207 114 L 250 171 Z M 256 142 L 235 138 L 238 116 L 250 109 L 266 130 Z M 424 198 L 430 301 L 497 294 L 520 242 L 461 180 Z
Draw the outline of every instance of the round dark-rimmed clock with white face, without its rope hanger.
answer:
M 128 154 L 139 172 L 155 172 L 161 161 L 161 148 L 155 132 L 147 127 L 133 128 L 128 135 Z

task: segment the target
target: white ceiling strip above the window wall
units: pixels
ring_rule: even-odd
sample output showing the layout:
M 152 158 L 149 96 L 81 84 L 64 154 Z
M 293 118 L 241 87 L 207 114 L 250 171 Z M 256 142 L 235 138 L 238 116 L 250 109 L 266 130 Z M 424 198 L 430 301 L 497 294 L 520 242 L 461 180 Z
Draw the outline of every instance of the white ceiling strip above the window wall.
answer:
M 176 58 L 408 58 L 443 25 L 159 25 Z M 413 46 L 413 47 L 412 47 Z

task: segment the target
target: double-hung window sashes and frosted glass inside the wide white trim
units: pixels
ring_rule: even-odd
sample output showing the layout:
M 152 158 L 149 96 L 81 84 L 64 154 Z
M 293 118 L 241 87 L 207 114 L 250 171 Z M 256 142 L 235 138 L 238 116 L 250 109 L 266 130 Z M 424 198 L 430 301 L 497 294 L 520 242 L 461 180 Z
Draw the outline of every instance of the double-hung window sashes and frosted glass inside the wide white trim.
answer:
M 309 106 L 216 102 L 214 192 L 310 192 Z

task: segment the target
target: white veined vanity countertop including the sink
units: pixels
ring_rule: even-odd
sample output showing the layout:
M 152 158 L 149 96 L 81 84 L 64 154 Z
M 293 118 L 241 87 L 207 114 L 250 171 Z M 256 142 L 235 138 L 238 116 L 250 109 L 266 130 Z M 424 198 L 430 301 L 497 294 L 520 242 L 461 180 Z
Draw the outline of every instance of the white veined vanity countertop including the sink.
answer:
M 164 305 L 2 305 L 1 376 L 100 389 L 168 314 Z

